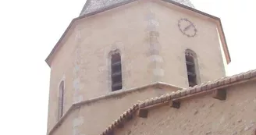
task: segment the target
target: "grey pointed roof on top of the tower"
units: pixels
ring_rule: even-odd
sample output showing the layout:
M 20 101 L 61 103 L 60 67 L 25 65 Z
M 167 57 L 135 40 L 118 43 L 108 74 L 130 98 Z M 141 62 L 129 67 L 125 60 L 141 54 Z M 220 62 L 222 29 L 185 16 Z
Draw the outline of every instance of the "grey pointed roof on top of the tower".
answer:
M 84 8 L 80 12 L 80 16 L 87 14 L 89 12 L 97 12 L 102 9 L 109 8 L 111 6 L 123 5 L 123 3 L 133 2 L 134 0 L 87 0 L 84 5 Z M 190 0 L 166 0 L 169 2 L 177 2 L 182 5 L 187 5 L 190 8 L 194 8 L 194 5 Z

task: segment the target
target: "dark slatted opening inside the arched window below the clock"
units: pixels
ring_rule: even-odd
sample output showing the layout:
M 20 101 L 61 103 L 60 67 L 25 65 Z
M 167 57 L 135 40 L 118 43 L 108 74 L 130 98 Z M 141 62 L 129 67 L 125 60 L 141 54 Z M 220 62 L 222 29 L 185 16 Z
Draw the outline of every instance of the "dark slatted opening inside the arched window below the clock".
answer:
M 194 57 L 192 55 L 186 55 L 186 65 L 189 87 L 194 87 L 197 85 L 197 74 L 194 65 Z

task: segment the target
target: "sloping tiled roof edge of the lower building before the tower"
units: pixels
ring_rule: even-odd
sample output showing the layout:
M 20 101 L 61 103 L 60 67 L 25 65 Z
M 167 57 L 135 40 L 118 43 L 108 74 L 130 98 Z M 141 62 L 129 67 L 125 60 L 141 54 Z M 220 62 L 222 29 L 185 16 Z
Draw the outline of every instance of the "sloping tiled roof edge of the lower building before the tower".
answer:
M 161 97 L 151 98 L 150 100 L 139 102 L 133 105 L 128 111 L 124 112 L 123 115 L 116 119 L 114 123 L 107 127 L 107 129 L 101 133 L 101 135 L 107 135 L 112 133 L 112 131 L 119 126 L 119 124 L 124 123 L 125 119 L 132 116 L 140 108 L 145 108 L 151 105 L 161 104 L 166 101 L 176 100 L 179 98 L 186 98 L 191 95 L 201 94 L 207 91 L 215 91 L 223 87 L 229 87 L 238 83 L 244 83 L 249 80 L 256 78 L 256 69 L 247 71 L 246 73 L 240 73 L 233 76 L 222 77 L 219 80 L 214 80 L 208 83 L 202 83 L 194 87 L 189 87 L 181 91 L 172 92 L 172 94 L 165 94 Z

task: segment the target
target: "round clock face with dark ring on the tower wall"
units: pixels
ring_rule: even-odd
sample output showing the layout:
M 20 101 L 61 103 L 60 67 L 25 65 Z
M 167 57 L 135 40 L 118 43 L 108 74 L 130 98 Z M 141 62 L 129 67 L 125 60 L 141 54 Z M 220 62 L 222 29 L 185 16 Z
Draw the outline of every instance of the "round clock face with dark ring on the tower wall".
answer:
M 180 31 L 187 37 L 194 37 L 197 35 L 197 29 L 190 20 L 180 19 L 178 22 L 178 27 Z

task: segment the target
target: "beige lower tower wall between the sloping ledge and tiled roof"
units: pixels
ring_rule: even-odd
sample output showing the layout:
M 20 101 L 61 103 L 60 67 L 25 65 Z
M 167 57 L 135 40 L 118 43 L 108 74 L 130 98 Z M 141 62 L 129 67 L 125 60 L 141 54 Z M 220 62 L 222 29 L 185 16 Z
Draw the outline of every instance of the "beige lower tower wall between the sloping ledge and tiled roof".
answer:
M 116 91 L 111 95 L 77 105 L 51 135 L 100 134 L 116 118 L 138 101 L 177 91 L 176 87 L 142 87 Z

